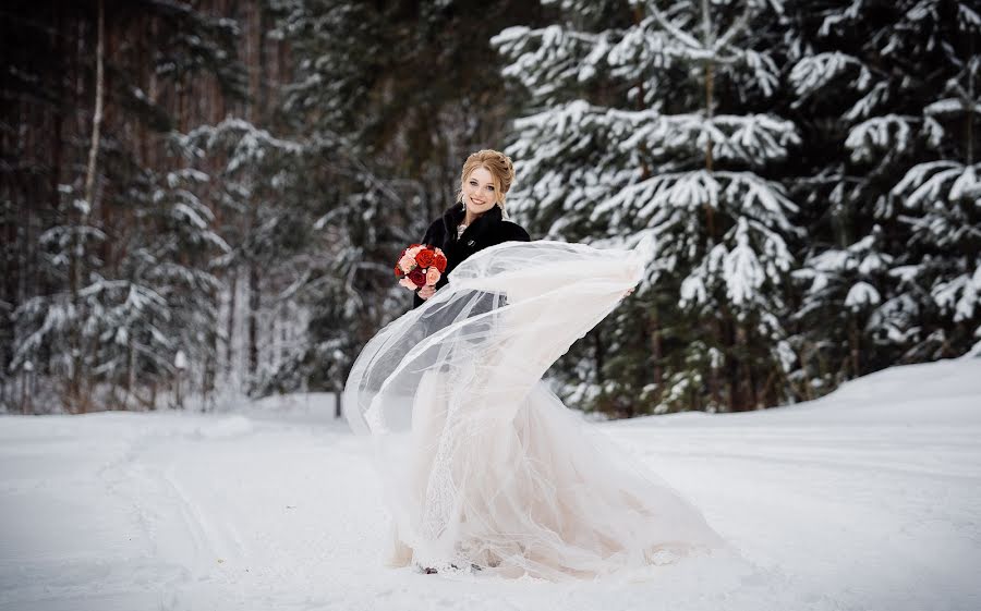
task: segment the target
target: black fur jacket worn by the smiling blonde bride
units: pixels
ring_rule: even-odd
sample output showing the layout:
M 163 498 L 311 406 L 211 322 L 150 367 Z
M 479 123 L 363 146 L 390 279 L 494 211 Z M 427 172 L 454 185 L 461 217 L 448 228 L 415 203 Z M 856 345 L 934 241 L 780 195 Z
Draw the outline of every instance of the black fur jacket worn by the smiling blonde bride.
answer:
M 436 283 L 437 291 L 446 285 L 446 278 L 453 271 L 453 268 L 477 250 L 512 240 L 531 241 L 528 232 L 521 225 L 501 218 L 498 206 L 481 215 L 477 220 L 463 230 L 463 234 L 457 240 L 457 225 L 463 222 L 463 204 L 453 204 L 447 208 L 441 218 L 429 224 L 429 229 L 420 241 L 422 244 L 443 248 L 446 255 L 446 270 L 443 272 L 443 278 Z M 416 291 L 412 297 L 412 307 L 416 308 L 423 303 L 425 300 L 420 297 L 419 291 Z

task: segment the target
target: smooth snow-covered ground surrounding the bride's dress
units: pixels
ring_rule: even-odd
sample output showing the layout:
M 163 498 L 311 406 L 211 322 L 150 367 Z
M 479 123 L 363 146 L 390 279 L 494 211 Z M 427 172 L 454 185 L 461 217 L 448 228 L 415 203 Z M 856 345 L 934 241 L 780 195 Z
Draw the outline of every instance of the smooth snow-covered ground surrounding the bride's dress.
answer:
M 388 570 L 363 439 L 326 395 L 237 414 L 0 419 L 0 609 L 981 609 L 981 358 L 808 404 L 600 426 L 741 559 L 643 583 Z

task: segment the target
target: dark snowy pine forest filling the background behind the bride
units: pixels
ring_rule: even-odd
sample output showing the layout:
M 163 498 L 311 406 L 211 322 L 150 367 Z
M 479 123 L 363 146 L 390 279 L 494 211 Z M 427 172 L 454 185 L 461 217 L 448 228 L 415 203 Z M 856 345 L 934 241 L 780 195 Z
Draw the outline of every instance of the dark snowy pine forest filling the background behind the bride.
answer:
M 608 417 L 981 351 L 954 0 L 9 0 L 0 411 L 339 392 L 482 148 L 532 240 L 653 234 L 549 371 Z

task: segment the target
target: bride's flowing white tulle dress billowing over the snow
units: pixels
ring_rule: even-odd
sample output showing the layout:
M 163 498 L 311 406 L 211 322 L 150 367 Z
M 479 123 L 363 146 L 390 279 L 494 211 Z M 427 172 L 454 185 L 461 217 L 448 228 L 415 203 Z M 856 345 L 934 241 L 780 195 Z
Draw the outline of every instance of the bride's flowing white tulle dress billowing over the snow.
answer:
M 390 565 L 562 581 L 725 545 L 542 380 L 641 280 L 651 247 L 492 246 L 368 342 L 344 414 L 375 442 Z

